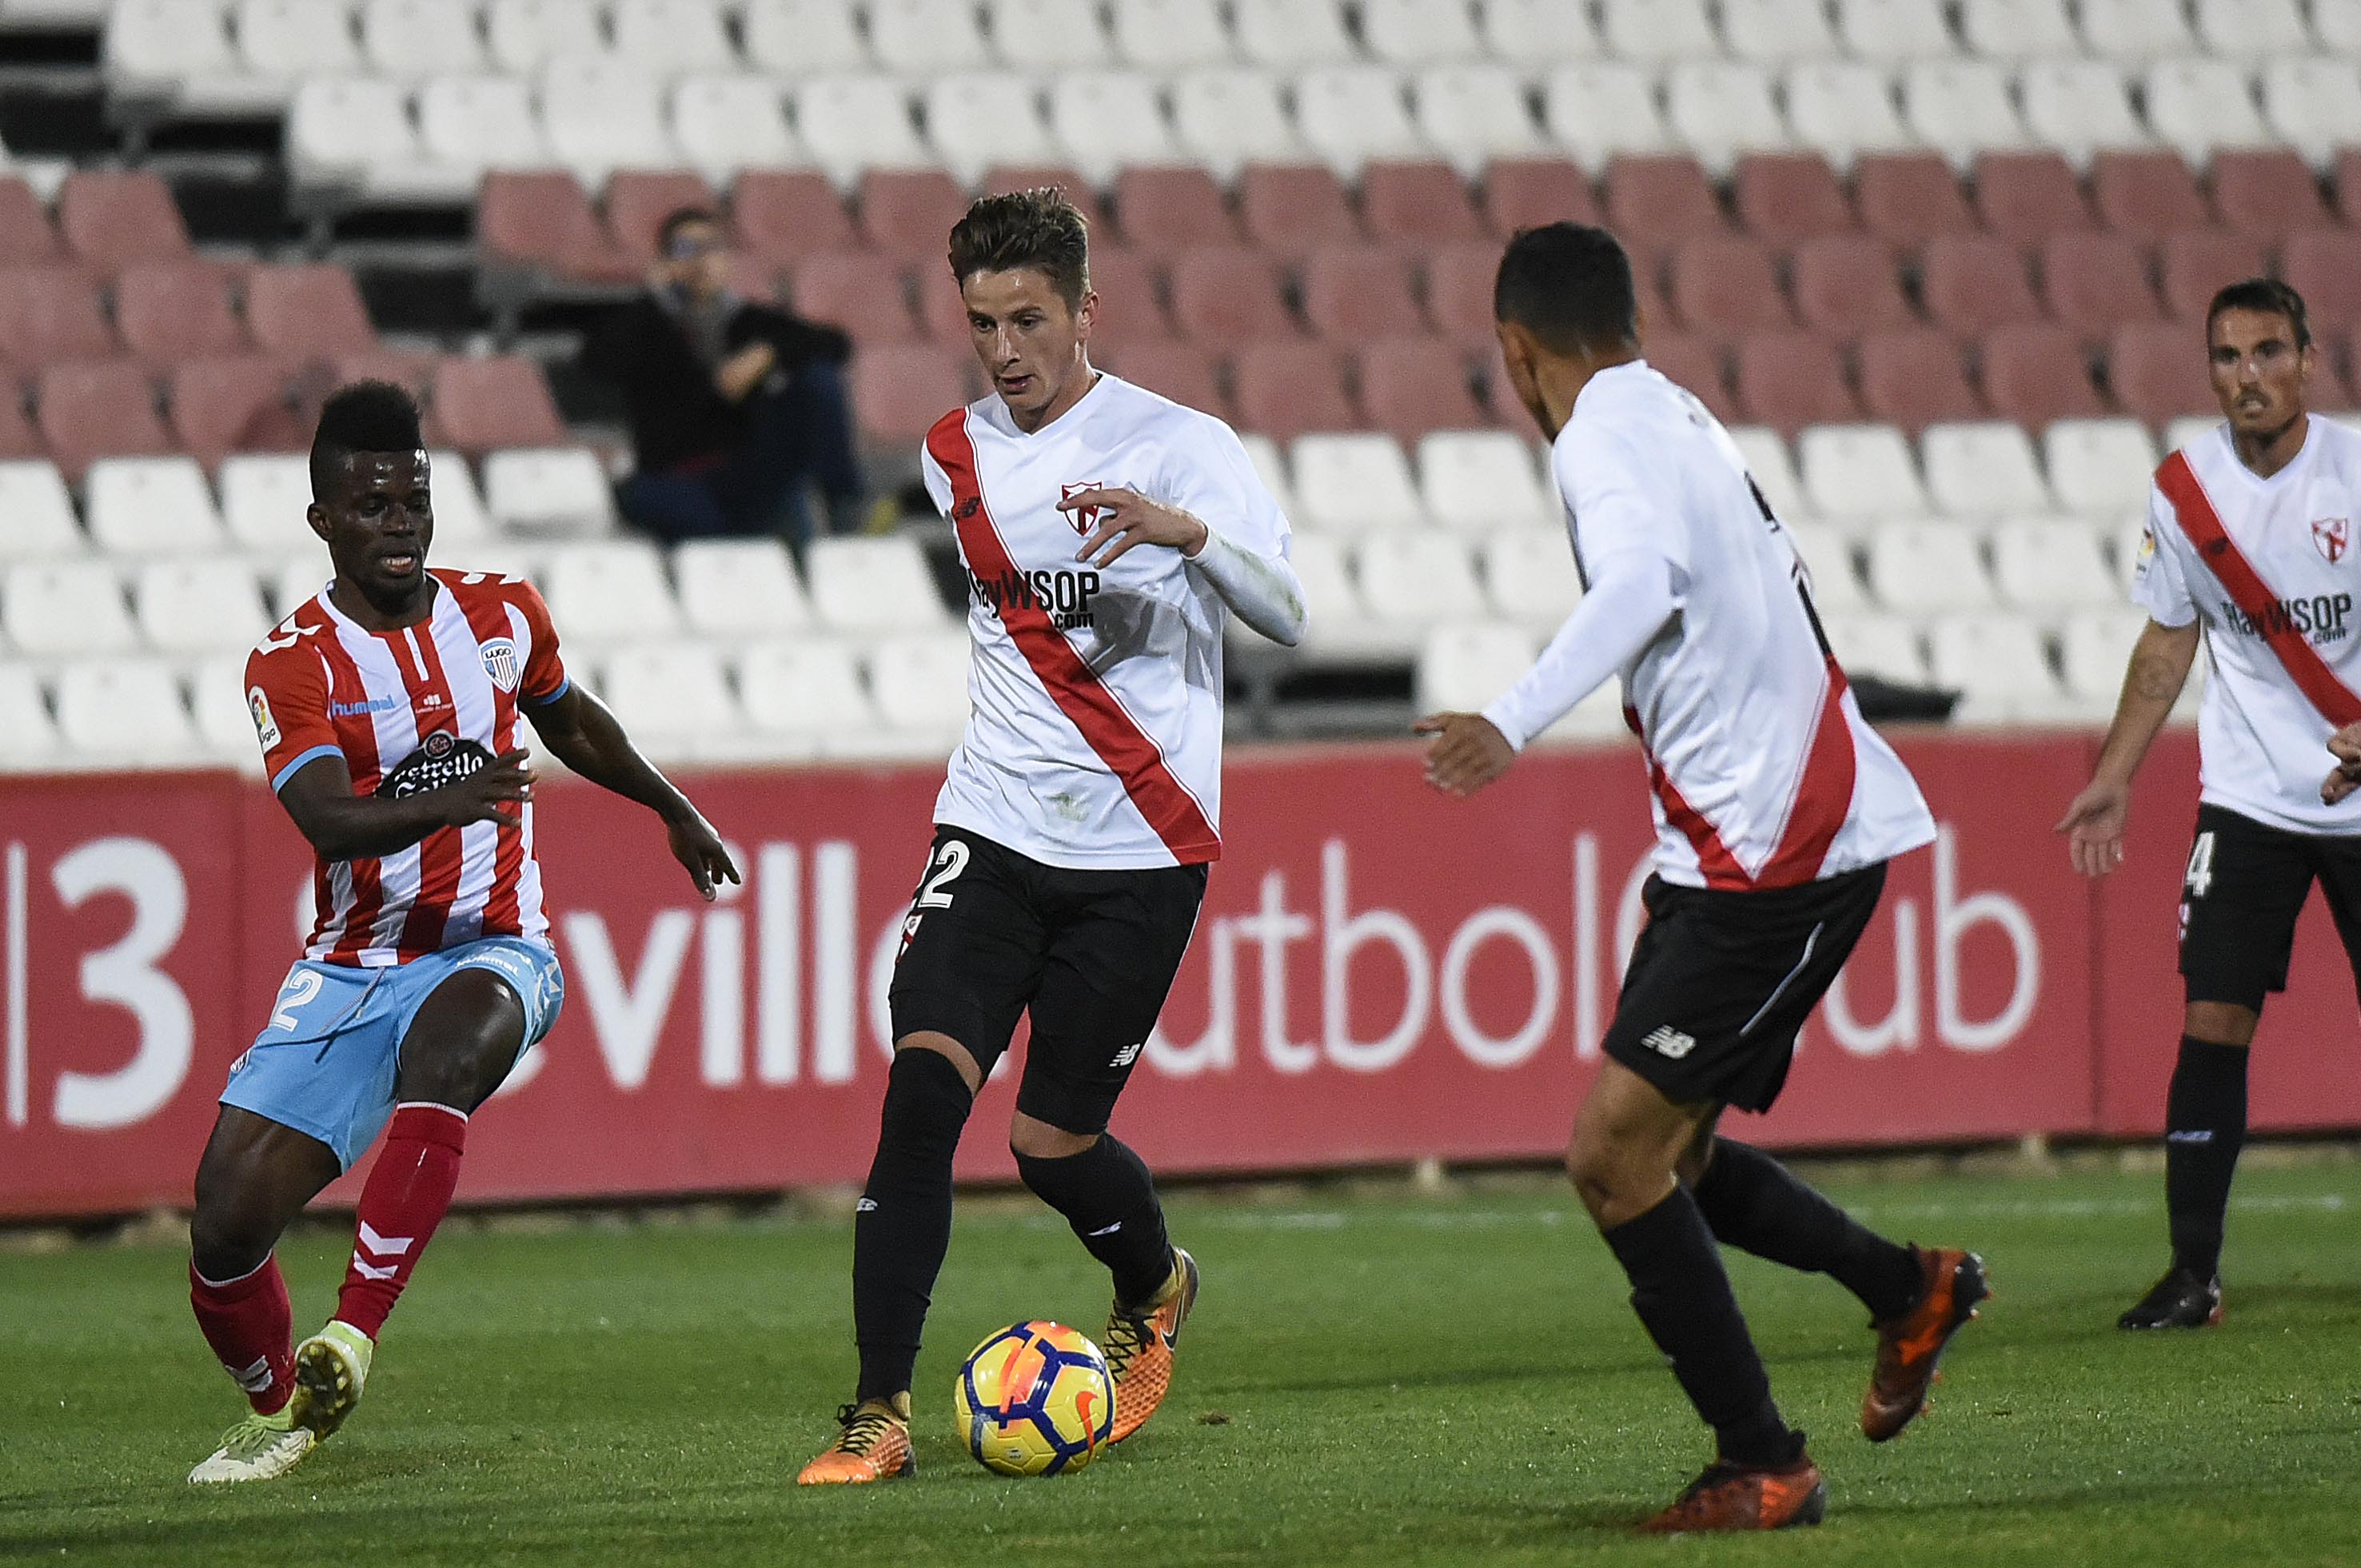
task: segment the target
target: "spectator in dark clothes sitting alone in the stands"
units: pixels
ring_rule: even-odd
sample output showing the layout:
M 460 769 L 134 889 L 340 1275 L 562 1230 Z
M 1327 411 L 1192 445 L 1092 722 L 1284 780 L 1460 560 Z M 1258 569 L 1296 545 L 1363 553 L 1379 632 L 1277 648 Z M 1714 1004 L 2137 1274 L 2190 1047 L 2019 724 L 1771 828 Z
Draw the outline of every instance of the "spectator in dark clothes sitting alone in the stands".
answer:
M 586 361 L 623 390 L 637 458 L 616 486 L 623 517 L 661 541 L 774 534 L 800 550 L 817 489 L 826 529 L 857 531 L 850 354 L 843 331 L 730 288 L 720 217 L 666 217 L 647 293 L 602 324 Z

